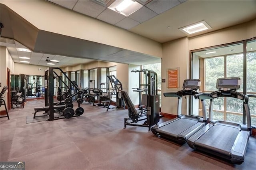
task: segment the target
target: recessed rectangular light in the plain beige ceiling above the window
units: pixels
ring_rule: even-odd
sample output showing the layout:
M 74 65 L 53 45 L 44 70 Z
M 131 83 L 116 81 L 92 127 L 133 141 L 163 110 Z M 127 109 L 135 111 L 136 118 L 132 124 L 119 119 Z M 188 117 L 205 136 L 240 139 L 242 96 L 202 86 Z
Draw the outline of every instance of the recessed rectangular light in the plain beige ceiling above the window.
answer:
M 182 31 L 188 35 L 194 34 L 197 32 L 202 32 L 205 30 L 210 30 L 210 29 L 212 29 L 212 28 L 205 21 L 200 21 L 195 24 L 191 24 L 189 26 L 179 28 L 180 31 Z

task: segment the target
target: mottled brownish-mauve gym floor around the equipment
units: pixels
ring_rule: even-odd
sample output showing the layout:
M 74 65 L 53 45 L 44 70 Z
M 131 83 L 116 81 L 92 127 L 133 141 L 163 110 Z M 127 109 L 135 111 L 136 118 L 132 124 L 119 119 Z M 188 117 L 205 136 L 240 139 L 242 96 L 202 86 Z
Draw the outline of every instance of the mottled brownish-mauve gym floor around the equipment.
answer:
M 26 124 L 34 107 L 28 101 L 0 121 L 0 161 L 25 161 L 26 170 L 188 170 L 255 169 L 256 138 L 250 137 L 245 162 L 232 165 L 162 140 L 144 127 L 123 129 L 128 110 L 82 104 L 80 117 Z M 74 102 L 74 108 L 77 103 Z M 40 113 L 38 114 L 40 115 Z M 167 119 L 161 119 L 166 121 Z

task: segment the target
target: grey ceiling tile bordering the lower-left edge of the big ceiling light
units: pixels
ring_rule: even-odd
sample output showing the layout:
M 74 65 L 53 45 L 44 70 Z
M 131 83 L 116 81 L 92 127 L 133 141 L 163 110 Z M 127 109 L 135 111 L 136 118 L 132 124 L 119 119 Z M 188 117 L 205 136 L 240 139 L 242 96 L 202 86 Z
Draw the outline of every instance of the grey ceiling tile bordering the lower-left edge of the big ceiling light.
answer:
M 119 14 L 118 12 L 114 12 L 113 10 L 106 9 L 97 17 L 97 19 L 114 25 L 119 21 L 121 21 L 122 19 L 124 19 L 125 17 L 126 16 Z

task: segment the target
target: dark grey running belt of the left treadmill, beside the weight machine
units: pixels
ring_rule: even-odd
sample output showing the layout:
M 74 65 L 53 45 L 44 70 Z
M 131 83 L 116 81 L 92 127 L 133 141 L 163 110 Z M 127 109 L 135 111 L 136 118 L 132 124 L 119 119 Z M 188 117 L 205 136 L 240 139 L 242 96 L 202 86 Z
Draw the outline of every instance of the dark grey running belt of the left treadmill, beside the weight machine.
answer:
M 167 125 L 164 125 L 163 127 L 158 128 L 157 132 L 164 132 L 169 133 L 177 136 L 178 134 L 184 132 L 188 128 L 192 127 L 198 123 L 198 121 L 191 120 L 191 119 L 178 119 L 177 121 L 174 121 L 172 123 L 169 123 Z

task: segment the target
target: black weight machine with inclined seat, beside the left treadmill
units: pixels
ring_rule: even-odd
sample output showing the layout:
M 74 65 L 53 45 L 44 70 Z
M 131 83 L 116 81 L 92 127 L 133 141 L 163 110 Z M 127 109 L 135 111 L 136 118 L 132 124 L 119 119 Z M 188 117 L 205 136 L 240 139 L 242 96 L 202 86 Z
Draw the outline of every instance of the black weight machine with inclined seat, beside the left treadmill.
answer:
M 132 70 L 132 72 L 139 73 L 139 87 L 133 91 L 139 92 L 139 106 L 141 108 L 140 110 L 136 110 L 127 92 L 121 91 L 129 112 L 129 118 L 124 118 L 124 128 L 126 128 L 126 126 L 139 126 L 148 127 L 148 130 L 151 130 L 151 127 L 157 125 L 160 120 L 160 96 L 157 91 L 157 74 L 148 69 Z M 143 84 L 141 83 L 141 74 L 143 74 L 145 78 Z M 143 98 L 141 98 L 142 93 L 144 93 L 144 97 L 146 95 L 146 111 L 144 111 L 141 106 L 141 99 Z M 142 125 L 137 124 L 139 121 L 144 121 L 144 123 Z

